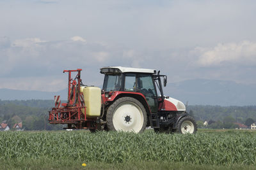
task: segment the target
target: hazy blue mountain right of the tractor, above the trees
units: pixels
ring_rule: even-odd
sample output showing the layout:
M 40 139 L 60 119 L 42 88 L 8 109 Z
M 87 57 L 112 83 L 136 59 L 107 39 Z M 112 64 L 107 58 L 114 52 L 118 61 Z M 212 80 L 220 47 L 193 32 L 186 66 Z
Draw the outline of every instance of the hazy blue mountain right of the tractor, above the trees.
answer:
M 234 81 L 186 80 L 168 83 L 164 94 L 189 105 L 250 106 L 256 105 L 256 85 Z

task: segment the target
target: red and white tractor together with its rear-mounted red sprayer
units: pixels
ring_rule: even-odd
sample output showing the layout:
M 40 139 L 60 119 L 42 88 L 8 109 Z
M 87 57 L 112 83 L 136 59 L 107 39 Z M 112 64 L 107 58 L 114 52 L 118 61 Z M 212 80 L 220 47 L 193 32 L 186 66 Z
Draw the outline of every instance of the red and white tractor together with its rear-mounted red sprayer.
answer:
M 186 106 L 177 99 L 164 96 L 167 76 L 155 69 L 102 67 L 102 89 L 83 85 L 82 69 L 68 73 L 68 99 L 49 111 L 50 124 L 63 124 L 64 129 L 95 131 L 155 132 L 193 134 L 197 126 Z M 75 78 L 71 78 L 76 72 Z M 163 80 L 163 85 L 162 85 Z

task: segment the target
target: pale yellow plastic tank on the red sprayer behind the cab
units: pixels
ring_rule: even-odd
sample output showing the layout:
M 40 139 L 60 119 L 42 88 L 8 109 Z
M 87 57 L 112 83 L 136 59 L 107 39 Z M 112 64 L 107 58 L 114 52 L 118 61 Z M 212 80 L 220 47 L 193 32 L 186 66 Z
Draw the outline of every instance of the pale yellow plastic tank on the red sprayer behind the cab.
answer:
M 81 87 L 86 107 L 86 117 L 99 117 L 101 108 L 101 89 L 99 87 Z M 84 113 L 84 110 L 82 111 Z

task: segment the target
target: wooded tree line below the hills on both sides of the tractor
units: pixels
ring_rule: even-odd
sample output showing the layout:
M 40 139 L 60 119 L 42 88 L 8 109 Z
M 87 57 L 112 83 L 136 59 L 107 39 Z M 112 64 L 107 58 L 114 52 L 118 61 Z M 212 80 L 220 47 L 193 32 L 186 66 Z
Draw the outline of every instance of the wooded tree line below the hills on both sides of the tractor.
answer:
M 48 123 L 48 111 L 54 106 L 53 100 L 1 101 L 0 123 L 6 121 L 9 127 L 22 122 L 25 130 L 57 130 L 62 125 Z M 198 123 L 209 122 L 210 128 L 236 128 L 234 122 L 250 124 L 256 121 L 256 106 L 201 106 L 187 107 Z M 247 121 L 247 122 L 246 122 Z

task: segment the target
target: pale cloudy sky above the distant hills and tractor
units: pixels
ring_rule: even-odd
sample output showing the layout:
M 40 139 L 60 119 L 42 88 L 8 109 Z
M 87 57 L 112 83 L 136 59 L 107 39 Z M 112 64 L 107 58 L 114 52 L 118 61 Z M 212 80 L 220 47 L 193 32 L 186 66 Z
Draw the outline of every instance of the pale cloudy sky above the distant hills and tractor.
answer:
M 102 85 L 102 66 L 169 82 L 256 83 L 256 1 L 0 1 L 0 89 L 58 91 L 63 69 Z

